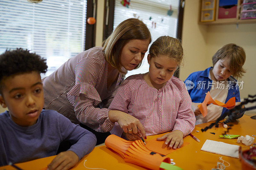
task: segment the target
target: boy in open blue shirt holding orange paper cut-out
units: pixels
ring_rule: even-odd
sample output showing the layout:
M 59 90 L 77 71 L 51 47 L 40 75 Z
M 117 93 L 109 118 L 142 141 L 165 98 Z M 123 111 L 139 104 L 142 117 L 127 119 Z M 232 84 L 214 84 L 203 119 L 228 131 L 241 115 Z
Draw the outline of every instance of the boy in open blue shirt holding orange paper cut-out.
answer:
M 217 120 L 228 110 L 234 107 L 224 108 L 216 105 L 207 107 L 207 115 L 203 117 L 197 105 L 204 101 L 209 91 L 213 100 L 226 103 L 230 98 L 236 98 L 236 105 L 240 104 L 242 82 L 237 82 L 234 77 L 241 78 L 245 70 L 245 52 L 236 44 L 227 44 L 220 48 L 212 57 L 213 67 L 204 71 L 197 71 L 188 76 L 184 81 L 192 100 L 192 110 L 196 116 L 196 124 Z M 233 77 L 232 77 L 232 76 Z M 242 117 L 244 112 L 236 115 L 236 119 Z

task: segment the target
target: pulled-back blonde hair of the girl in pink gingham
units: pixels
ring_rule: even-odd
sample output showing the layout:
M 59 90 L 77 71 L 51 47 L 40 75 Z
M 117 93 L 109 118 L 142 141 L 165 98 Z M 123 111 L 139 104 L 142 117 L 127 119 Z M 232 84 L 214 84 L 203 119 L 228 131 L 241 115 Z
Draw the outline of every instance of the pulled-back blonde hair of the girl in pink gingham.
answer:
M 157 55 L 168 55 L 178 66 L 182 63 L 183 48 L 180 40 L 169 36 L 161 36 L 149 48 L 150 58 Z

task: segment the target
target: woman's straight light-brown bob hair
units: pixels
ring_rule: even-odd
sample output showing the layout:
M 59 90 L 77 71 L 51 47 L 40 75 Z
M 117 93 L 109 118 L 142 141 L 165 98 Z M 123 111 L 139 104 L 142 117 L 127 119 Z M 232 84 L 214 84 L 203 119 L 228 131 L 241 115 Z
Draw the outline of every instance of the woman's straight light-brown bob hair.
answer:
M 119 72 L 124 73 L 121 70 L 122 65 L 120 61 L 120 55 L 124 45 L 130 40 L 146 40 L 151 42 L 151 34 L 146 24 L 136 18 L 129 18 L 121 22 L 109 37 L 102 42 L 102 51 L 104 53 L 107 62 Z M 141 62 L 135 67 L 139 68 Z

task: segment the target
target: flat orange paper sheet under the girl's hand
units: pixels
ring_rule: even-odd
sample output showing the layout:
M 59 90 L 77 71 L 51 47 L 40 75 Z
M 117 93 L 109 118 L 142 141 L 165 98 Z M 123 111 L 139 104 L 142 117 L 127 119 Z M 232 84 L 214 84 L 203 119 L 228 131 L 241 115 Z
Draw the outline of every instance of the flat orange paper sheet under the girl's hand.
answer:
M 181 147 L 189 144 L 188 142 L 184 141 L 180 148 L 172 149 L 170 147 L 167 147 L 169 145 L 166 145 L 164 143 L 165 143 L 165 141 L 158 141 L 158 140 L 156 140 L 156 138 L 154 138 L 154 139 L 151 139 L 149 141 L 146 141 L 146 147 L 150 151 L 157 152 L 157 153 L 160 153 L 162 155 L 167 155 L 167 154 L 169 154 L 171 152 L 174 152 L 175 150 L 180 149 Z

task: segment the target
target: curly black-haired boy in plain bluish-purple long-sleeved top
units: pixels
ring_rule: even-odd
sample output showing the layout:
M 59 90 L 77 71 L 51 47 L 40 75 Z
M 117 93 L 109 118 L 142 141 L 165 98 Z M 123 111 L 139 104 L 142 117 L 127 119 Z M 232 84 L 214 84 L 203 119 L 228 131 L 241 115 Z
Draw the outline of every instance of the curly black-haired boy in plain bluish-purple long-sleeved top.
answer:
M 60 142 L 70 141 L 48 169 L 69 169 L 90 153 L 96 137 L 53 110 L 44 110 L 40 73 L 45 59 L 17 48 L 0 55 L 0 166 L 56 155 Z M 65 107 L 65 106 L 63 106 Z

